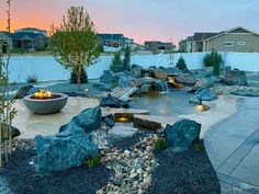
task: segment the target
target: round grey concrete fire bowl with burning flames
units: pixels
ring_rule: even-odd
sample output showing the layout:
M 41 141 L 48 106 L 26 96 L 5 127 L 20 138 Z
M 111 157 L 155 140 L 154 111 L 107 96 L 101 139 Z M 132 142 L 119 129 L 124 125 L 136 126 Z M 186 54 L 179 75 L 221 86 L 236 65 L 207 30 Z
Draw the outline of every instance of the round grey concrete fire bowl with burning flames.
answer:
M 23 98 L 25 106 L 35 114 L 53 114 L 67 104 L 68 95 L 40 91 Z

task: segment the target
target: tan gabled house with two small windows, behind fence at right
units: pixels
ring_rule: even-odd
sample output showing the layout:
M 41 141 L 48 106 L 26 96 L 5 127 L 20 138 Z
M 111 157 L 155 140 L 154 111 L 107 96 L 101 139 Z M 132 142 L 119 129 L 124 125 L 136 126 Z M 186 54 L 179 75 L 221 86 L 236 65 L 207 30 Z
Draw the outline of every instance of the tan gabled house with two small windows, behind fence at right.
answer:
M 203 52 L 259 53 L 259 34 L 238 26 L 203 39 Z

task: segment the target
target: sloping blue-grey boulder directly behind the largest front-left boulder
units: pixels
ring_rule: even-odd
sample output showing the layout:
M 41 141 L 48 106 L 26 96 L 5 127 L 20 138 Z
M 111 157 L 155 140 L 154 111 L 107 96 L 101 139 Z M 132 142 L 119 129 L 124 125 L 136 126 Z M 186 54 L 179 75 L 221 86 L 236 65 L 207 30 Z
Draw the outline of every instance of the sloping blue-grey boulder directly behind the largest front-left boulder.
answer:
M 70 123 L 61 126 L 59 133 L 61 132 L 72 132 L 75 127 L 83 128 L 86 133 L 91 133 L 101 127 L 102 115 L 101 109 L 87 109 L 82 111 L 79 115 L 74 116 Z

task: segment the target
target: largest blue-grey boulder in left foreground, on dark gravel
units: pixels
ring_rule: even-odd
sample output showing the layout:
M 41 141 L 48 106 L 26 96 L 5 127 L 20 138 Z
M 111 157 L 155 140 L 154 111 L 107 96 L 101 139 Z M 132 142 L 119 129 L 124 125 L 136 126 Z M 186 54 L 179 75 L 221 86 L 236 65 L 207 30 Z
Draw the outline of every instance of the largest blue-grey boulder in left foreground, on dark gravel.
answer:
M 56 136 L 36 136 L 35 148 L 41 173 L 80 167 L 86 159 L 99 152 L 86 132 L 78 127 L 74 129 L 74 133 L 63 132 Z

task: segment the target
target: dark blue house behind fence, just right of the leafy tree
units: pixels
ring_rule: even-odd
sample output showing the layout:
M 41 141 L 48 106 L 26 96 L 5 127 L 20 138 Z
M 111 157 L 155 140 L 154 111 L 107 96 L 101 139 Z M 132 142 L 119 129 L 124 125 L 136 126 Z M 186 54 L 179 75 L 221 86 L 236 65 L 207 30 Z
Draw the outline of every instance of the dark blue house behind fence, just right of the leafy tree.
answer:
M 125 47 L 125 37 L 123 34 L 98 34 L 103 46 L 108 47 Z

